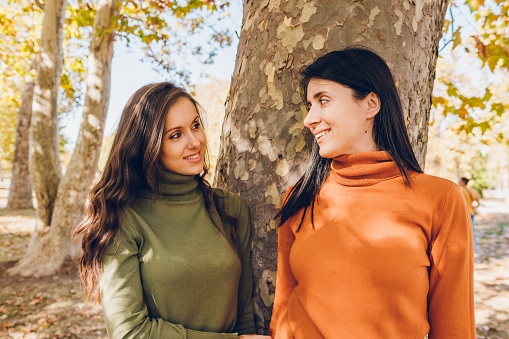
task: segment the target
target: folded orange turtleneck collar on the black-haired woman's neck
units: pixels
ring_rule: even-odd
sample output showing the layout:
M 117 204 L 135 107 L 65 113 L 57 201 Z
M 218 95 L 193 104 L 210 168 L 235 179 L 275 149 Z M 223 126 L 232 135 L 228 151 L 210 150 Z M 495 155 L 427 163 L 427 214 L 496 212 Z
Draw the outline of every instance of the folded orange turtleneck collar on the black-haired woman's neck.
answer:
M 387 152 L 376 151 L 334 158 L 330 175 L 343 186 L 370 186 L 401 174 Z

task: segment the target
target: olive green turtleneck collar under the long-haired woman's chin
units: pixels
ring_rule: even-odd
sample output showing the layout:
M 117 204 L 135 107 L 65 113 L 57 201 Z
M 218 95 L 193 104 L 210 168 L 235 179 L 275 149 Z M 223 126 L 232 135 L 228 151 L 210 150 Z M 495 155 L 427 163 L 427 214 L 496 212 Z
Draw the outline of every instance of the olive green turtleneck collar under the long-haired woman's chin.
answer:
M 160 198 L 169 201 L 188 201 L 196 199 L 198 196 L 203 195 L 198 186 L 198 180 L 195 175 L 183 175 L 167 171 L 165 169 L 159 170 Z M 144 196 L 152 196 L 151 190 L 146 190 Z

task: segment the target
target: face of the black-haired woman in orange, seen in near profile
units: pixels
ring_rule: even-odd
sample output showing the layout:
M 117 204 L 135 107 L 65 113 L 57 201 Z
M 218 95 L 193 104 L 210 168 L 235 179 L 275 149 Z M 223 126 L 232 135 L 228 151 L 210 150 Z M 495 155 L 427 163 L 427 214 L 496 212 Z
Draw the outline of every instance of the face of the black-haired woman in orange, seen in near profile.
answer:
M 307 88 L 307 104 L 304 125 L 315 136 L 323 158 L 378 149 L 372 137 L 373 119 L 380 107 L 376 94 L 357 100 L 352 89 L 313 78 Z

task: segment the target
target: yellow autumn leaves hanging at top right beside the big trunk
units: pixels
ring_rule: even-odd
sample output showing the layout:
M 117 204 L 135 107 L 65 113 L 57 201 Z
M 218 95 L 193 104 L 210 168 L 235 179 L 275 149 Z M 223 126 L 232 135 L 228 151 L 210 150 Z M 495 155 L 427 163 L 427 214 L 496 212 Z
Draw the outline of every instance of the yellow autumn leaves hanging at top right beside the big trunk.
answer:
M 465 69 L 470 72 L 475 69 L 476 61 L 473 59 L 477 58 L 480 60 L 479 69 L 482 68 L 484 73 L 491 73 L 492 80 L 484 89 L 479 90 L 478 83 L 473 84 L 471 79 L 465 79 L 465 77 L 462 79 L 460 76 L 451 77 L 446 73 L 437 72 L 437 80 L 442 87 L 445 87 L 445 90 L 440 94 L 435 93 L 433 106 L 440 109 L 443 115 L 455 115 L 462 121 L 458 125 L 458 132 L 473 134 L 477 130 L 485 135 L 497 124 L 506 122 L 507 118 L 503 116 L 509 111 L 509 100 L 503 94 L 507 84 L 501 80 L 509 71 L 509 2 L 467 0 L 465 4 L 476 21 L 476 34 L 470 39 L 465 39 L 462 33 L 468 29 L 458 25 L 454 27 L 455 21 L 460 22 L 459 19 L 464 19 L 462 16 L 465 15 L 462 10 L 464 5 L 452 2 L 451 18 L 445 21 L 443 28 L 444 36 L 450 36 L 450 39 L 442 50 L 452 42 L 451 54 L 454 55 L 458 50 L 463 51 L 465 59 L 462 61 L 463 73 Z M 448 50 L 442 54 L 447 52 Z M 440 62 L 443 60 L 439 60 Z M 502 95 L 494 95 L 496 92 L 502 92 Z M 493 141 L 509 142 L 502 133 L 491 136 Z

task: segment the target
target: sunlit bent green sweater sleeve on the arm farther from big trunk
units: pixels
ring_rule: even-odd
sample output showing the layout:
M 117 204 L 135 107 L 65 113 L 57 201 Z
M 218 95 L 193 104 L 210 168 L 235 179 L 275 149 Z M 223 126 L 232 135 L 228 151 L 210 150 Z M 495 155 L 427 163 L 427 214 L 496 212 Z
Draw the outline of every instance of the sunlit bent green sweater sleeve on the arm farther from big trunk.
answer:
M 101 277 L 101 304 L 110 338 L 225 339 L 235 333 L 193 331 L 161 318 L 150 318 L 143 301 L 138 244 L 143 239 L 131 229 L 129 218 L 104 254 Z

